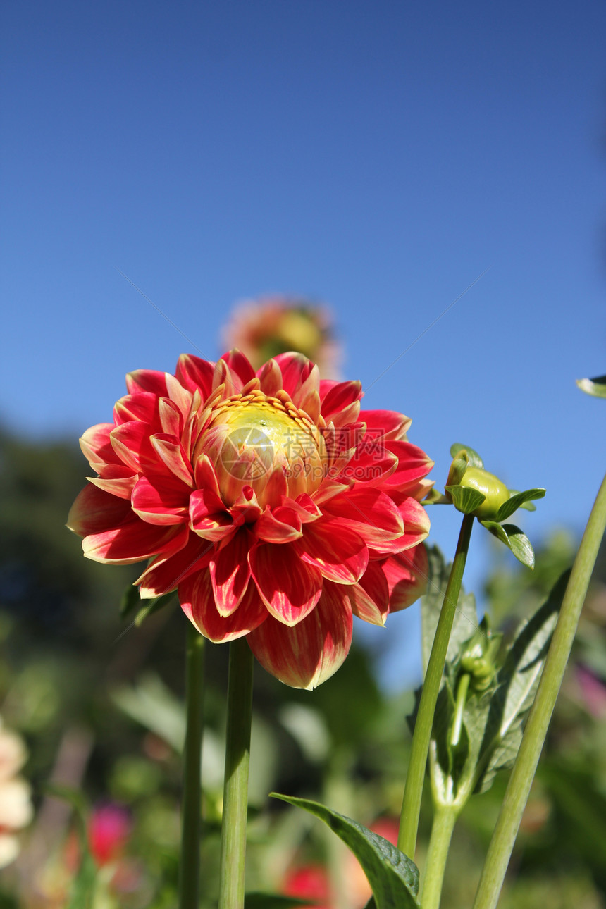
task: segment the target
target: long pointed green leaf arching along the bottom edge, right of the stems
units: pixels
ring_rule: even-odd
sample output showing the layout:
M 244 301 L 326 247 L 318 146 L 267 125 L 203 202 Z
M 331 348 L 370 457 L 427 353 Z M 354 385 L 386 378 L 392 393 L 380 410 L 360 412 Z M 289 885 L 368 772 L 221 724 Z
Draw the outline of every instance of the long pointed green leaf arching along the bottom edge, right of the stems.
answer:
M 418 909 L 419 869 L 389 840 L 318 802 L 271 794 L 315 814 L 349 846 L 373 889 L 376 909 Z

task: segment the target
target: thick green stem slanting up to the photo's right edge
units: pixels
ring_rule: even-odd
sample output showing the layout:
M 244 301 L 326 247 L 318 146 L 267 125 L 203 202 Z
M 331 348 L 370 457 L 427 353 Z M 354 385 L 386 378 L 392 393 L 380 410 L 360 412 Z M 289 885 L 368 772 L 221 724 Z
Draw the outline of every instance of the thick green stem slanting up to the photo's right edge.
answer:
M 579 552 L 572 565 L 571 577 L 561 604 L 558 622 L 541 674 L 541 682 L 532 704 L 520 751 L 513 765 L 501 814 L 492 834 L 491 844 L 482 868 L 473 909 L 494 909 L 501 894 L 510 855 L 512 854 L 522 814 L 531 790 L 551 712 L 560 691 L 561 679 L 571 652 L 582 604 L 591 579 L 601 538 L 606 528 L 606 476 L 596 497 Z

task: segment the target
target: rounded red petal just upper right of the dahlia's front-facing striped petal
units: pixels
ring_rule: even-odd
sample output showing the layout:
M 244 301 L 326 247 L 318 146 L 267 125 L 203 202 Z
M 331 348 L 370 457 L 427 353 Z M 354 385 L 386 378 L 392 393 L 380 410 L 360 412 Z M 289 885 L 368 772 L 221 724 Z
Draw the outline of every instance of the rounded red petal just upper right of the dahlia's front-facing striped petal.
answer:
M 315 565 L 335 584 L 355 584 L 368 564 L 368 548 L 360 534 L 339 521 L 309 524 L 294 548 L 303 562 Z

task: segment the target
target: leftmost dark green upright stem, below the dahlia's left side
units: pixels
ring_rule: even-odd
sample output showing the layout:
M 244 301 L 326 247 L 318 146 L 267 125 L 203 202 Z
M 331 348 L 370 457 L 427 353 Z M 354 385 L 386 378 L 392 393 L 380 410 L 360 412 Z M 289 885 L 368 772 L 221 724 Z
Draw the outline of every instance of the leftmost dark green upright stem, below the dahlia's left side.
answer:
M 204 713 L 204 637 L 187 623 L 185 656 L 186 729 L 182 805 L 179 909 L 198 909 L 200 888 L 200 825 L 202 731 Z

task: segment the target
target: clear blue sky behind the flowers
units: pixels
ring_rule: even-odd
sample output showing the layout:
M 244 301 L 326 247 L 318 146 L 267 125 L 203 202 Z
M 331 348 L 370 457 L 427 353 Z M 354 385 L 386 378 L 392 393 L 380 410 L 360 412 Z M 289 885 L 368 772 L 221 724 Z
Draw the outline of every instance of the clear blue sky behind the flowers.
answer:
M 310 295 L 438 484 L 462 441 L 547 487 L 531 537 L 581 530 L 606 465 L 574 385 L 606 371 L 603 2 L 5 0 L 0 32 L 5 425 L 80 435 L 127 371 L 220 354 L 235 300 Z

